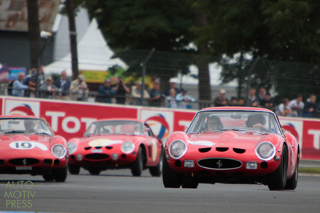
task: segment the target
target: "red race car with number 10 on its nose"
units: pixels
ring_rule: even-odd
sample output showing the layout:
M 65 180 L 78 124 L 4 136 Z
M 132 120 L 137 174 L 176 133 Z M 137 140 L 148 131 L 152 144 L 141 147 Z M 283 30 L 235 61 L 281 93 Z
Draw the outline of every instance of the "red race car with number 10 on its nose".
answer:
M 64 138 L 54 136 L 44 119 L 0 116 L 0 174 L 42 175 L 64 182 L 68 156 Z

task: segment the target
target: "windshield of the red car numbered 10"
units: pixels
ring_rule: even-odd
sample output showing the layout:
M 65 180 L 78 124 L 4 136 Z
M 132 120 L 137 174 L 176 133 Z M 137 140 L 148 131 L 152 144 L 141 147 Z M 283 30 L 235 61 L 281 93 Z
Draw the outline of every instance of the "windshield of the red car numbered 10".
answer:
M 43 134 L 52 136 L 42 119 L 3 118 L 0 119 L 0 134 Z

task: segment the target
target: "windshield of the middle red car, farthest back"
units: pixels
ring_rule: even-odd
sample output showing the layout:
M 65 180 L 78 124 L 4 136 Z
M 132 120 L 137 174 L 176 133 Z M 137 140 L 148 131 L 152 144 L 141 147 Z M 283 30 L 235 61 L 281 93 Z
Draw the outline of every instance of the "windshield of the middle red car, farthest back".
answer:
M 83 136 L 109 134 L 144 135 L 143 125 L 138 121 L 98 121 L 92 123 Z

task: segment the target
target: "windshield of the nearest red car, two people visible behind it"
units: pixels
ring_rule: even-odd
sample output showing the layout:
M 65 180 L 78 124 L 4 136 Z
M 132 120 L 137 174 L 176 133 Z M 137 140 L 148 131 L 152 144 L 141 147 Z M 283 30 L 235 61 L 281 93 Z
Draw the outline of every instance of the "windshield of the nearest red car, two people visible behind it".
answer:
M 211 131 L 247 131 L 281 135 L 274 114 L 262 111 L 211 110 L 198 112 L 186 133 Z

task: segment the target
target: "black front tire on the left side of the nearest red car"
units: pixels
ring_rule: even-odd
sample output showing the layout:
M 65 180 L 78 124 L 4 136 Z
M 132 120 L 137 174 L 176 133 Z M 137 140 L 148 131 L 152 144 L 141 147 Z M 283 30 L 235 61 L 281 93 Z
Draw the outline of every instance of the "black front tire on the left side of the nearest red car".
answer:
M 163 152 L 162 158 L 162 182 L 164 188 L 180 188 L 182 183 L 182 175 L 170 169 L 165 159 L 165 152 Z

